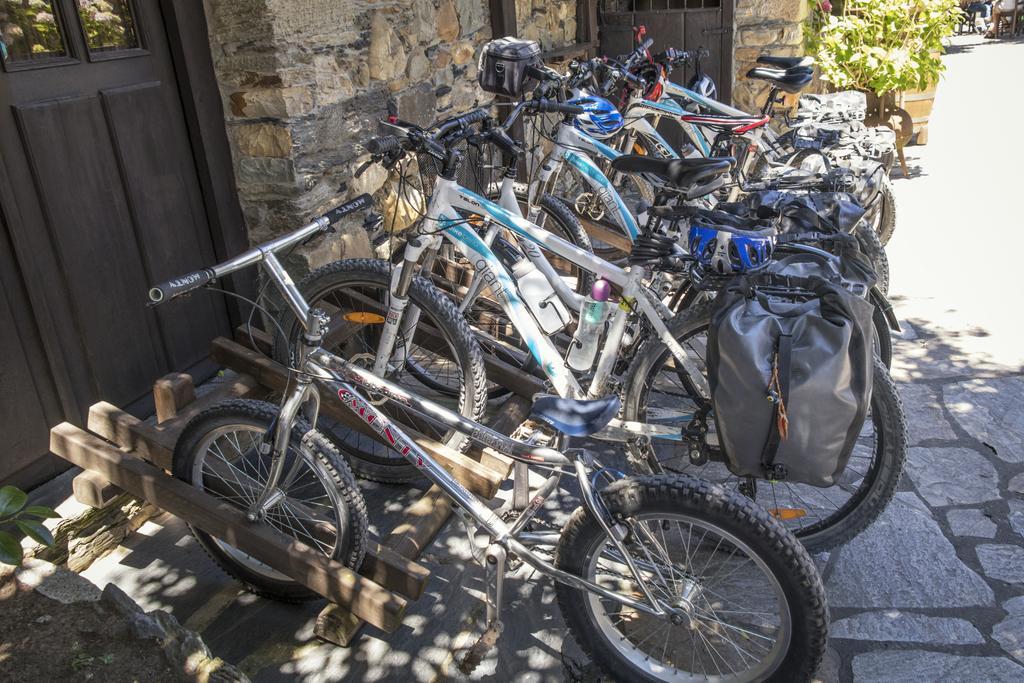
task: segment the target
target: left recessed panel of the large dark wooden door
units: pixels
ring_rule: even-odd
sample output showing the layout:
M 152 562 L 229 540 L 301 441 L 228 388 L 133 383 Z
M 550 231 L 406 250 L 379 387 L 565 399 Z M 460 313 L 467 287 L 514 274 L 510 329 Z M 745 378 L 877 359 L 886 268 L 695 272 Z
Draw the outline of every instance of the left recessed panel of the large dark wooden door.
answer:
M 99 98 L 14 111 L 72 306 L 61 334 L 80 338 L 95 398 L 132 401 L 167 364 Z

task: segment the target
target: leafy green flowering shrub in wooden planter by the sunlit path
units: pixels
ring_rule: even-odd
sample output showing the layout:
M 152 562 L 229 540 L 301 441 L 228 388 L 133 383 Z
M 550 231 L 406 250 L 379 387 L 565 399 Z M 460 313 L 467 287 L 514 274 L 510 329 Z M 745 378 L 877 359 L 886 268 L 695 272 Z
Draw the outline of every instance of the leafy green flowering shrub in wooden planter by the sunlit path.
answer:
M 808 48 L 836 90 L 868 94 L 874 119 L 902 108 L 919 142 L 927 138 L 935 88 L 945 67 L 942 40 L 959 20 L 958 0 L 822 0 L 811 12 Z

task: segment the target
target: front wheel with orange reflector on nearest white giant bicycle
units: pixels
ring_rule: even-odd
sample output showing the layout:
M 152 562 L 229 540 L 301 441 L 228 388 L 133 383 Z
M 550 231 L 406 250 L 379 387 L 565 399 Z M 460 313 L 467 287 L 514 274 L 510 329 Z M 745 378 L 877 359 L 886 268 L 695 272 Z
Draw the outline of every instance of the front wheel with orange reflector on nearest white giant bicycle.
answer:
M 331 317 L 324 348 L 360 367 L 373 368 L 390 302 L 391 268 L 388 262 L 375 259 L 335 261 L 299 283 L 309 305 Z M 478 421 L 486 407 L 486 374 L 472 331 L 452 301 L 421 276 L 413 279 L 404 314 L 409 316 L 414 310 L 419 312 L 419 322 L 408 338 L 399 335 L 385 378 L 410 393 Z M 285 361 L 291 357 L 290 349 L 301 328 L 292 315 L 283 321 L 283 327 L 287 339 L 275 340 L 273 353 Z M 462 433 L 396 401 L 385 400 L 379 408 L 414 434 L 453 449 L 469 445 Z M 416 467 L 361 424 L 340 422 L 321 413 L 317 426 L 348 457 L 357 475 L 386 483 L 422 478 Z

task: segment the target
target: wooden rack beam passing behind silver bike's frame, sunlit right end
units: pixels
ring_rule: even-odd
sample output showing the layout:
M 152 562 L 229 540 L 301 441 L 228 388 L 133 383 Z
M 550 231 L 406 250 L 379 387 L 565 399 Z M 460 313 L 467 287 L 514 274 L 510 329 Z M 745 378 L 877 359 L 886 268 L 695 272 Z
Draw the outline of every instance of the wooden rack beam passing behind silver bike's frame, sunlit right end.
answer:
M 270 358 L 251 351 L 241 344 L 229 339 L 218 337 L 213 341 L 213 358 L 236 372 L 246 373 L 255 377 L 261 384 L 274 390 L 284 390 L 288 383 L 288 371 L 284 366 L 274 362 Z M 329 416 L 346 426 L 359 430 L 373 438 L 380 436 L 371 430 L 361 420 L 355 418 L 351 411 L 342 405 L 337 396 L 326 393 L 321 389 L 321 413 Z M 427 438 L 414 430 L 408 431 L 408 435 L 421 447 L 440 463 L 444 469 L 459 479 L 459 482 L 478 496 L 494 498 L 504 480 L 504 475 L 480 465 L 478 462 L 467 458 L 465 455 L 450 449 L 437 441 Z

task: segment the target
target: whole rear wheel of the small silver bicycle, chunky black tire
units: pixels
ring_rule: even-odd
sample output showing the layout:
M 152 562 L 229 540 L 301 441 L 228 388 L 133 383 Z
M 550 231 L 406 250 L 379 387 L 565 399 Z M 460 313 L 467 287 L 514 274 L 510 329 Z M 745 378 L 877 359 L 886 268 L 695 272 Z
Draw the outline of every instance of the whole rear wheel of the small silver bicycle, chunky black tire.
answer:
M 612 679 L 804 681 L 824 653 L 827 607 L 814 562 L 763 509 L 684 476 L 622 479 L 601 493 L 637 574 L 593 515 L 579 509 L 558 568 L 668 608 L 658 616 L 556 585 L 580 646 Z

